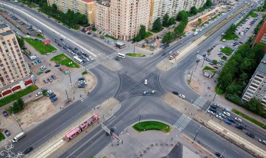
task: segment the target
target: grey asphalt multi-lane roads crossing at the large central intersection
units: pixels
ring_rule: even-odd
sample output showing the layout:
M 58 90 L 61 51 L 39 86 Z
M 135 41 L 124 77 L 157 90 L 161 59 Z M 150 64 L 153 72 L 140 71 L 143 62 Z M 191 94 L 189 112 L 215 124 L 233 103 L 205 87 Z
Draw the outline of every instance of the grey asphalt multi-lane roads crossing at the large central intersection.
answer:
M 69 30 L 52 20 L 46 20 L 46 16 L 38 13 L 34 9 L 21 7 L 16 3 L 12 3 L 12 1 L 3 0 L 3 2 L 5 3 L 4 6 L 7 10 L 11 11 L 13 8 L 17 17 L 20 19 L 28 18 L 30 24 L 36 28 L 42 29 L 47 39 L 53 41 L 56 38 L 64 38 L 68 45 L 79 47 L 86 52 L 92 52 L 91 54 L 95 57 L 116 52 L 79 31 Z M 227 15 L 233 13 L 242 5 L 244 5 L 244 3 L 241 3 L 238 7 L 233 8 L 223 17 L 220 17 L 215 22 L 211 23 L 208 28 L 210 29 L 221 22 Z M 226 24 L 223 28 L 210 36 L 209 39 L 212 39 L 211 41 L 218 39 L 221 33 L 225 32 L 225 30 L 236 20 L 237 18 L 232 19 L 232 21 Z M 204 34 L 208 28 L 199 32 L 198 36 Z M 180 40 L 180 42 L 184 42 L 183 44 L 180 44 L 179 42 L 173 44 L 164 50 L 164 52 L 168 53 L 171 50 L 176 51 L 182 49 L 182 47 L 191 44 L 191 42 L 197 37 L 193 37 L 192 35 L 187 36 Z M 214 44 L 209 41 L 210 40 L 204 41 L 197 47 L 197 50 L 205 50 L 207 47 Z M 191 99 L 195 101 L 200 97 L 187 86 L 186 80 L 184 79 L 184 71 L 195 66 L 196 55 L 194 52 L 188 53 L 177 63 L 176 67 L 167 72 L 163 72 L 158 70 L 156 65 L 166 57 L 167 56 L 161 56 L 158 54 L 143 59 L 125 58 L 119 61 L 122 65 L 122 69 L 119 72 L 113 72 L 102 65 L 94 67 L 91 71 L 97 77 L 97 85 L 89 94 L 89 97 L 82 102 L 76 101 L 71 106 L 64 109 L 64 111 L 61 111 L 29 131 L 25 137 L 26 139 L 22 139 L 15 144 L 14 150 L 24 151 L 29 146 L 33 146 L 34 148 L 39 147 L 41 144 L 55 136 L 56 133 L 62 131 L 69 124 L 91 111 L 100 101 L 104 101 L 111 97 L 114 97 L 121 102 L 121 108 L 111 118 L 106 120 L 104 124 L 108 127 L 116 127 L 119 131 L 136 122 L 139 115 L 141 115 L 143 119 L 162 120 L 169 124 L 182 121 L 182 119 L 188 119 L 184 117 L 181 112 L 174 110 L 164 103 L 161 100 L 161 96 L 172 90 L 178 90 L 186 95 L 189 103 Z M 144 79 L 148 79 L 149 84 L 147 86 L 143 84 Z M 158 93 L 156 95 L 142 95 L 144 90 L 151 89 L 156 89 Z M 208 108 L 209 104 L 210 101 L 206 100 L 200 108 L 205 110 Z M 258 130 L 258 132 L 260 132 L 258 134 L 260 134 L 261 138 L 266 138 L 262 129 L 248 122 L 247 125 L 248 128 Z M 179 125 L 177 127 L 183 130 L 187 135 L 194 137 L 195 131 L 199 128 L 199 123 L 194 120 L 189 120 L 186 125 Z M 211 152 L 227 149 L 225 155 L 229 155 L 230 158 L 239 158 L 239 154 L 242 154 L 242 158 L 252 157 L 250 154 L 231 143 L 228 143 L 228 141 L 205 127 L 201 128 L 197 139 L 212 147 L 211 149 L 209 146 L 205 147 Z M 86 158 L 90 155 L 96 155 L 109 143 L 110 139 L 107 138 L 104 131 L 98 126 L 91 133 L 87 134 L 84 139 L 70 147 L 59 157 Z

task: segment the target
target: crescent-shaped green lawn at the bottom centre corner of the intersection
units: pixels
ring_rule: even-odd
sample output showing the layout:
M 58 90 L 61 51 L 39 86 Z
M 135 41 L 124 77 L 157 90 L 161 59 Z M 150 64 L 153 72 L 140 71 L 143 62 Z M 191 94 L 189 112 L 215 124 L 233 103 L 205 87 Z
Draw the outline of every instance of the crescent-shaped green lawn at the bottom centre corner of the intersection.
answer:
M 171 129 L 169 125 L 158 121 L 144 121 L 140 122 L 139 124 L 136 123 L 133 125 L 133 128 L 137 131 L 160 130 L 166 133 Z

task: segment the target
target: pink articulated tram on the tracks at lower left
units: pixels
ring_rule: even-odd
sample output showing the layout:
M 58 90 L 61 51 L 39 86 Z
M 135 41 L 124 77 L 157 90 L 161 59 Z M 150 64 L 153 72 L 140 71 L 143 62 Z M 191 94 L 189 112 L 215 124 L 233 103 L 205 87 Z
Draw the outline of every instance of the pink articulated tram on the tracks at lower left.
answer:
M 82 124 L 80 124 L 78 127 L 72 129 L 70 132 L 68 132 L 66 134 L 66 136 L 65 136 L 66 141 L 70 141 L 71 139 L 73 139 L 79 133 L 81 133 L 82 131 L 84 131 L 84 129 L 88 128 L 88 126 L 90 126 L 91 124 L 93 124 L 94 122 L 96 122 L 98 119 L 99 119 L 99 115 L 98 114 L 94 114 L 92 117 L 90 117 L 89 119 L 87 119 L 85 122 L 83 122 Z

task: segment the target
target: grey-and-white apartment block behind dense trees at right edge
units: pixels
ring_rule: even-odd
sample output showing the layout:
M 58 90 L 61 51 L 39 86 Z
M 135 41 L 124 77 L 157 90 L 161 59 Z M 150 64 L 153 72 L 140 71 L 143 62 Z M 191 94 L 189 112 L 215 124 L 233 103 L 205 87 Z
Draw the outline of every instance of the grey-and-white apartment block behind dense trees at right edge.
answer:
M 242 100 L 250 101 L 251 98 L 261 101 L 266 110 L 266 55 L 243 92 Z

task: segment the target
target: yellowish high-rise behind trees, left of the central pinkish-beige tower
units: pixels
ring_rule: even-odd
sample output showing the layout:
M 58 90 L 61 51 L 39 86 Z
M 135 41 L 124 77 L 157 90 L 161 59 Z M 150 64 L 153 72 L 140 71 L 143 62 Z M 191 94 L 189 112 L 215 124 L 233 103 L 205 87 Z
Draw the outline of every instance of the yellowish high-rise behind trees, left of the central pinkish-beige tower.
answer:
M 67 12 L 68 9 L 80 12 L 88 17 L 88 22 L 94 24 L 94 2 L 96 0 L 47 0 L 48 5 L 56 4 L 57 9 Z

